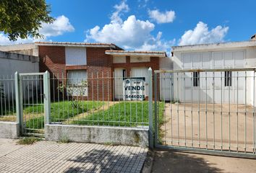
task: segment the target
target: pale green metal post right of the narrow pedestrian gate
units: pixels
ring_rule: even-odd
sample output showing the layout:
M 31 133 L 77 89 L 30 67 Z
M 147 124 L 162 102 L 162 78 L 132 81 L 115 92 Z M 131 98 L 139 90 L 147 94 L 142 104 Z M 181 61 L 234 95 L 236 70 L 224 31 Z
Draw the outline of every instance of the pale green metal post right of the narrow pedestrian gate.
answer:
M 50 124 L 51 120 L 51 89 L 50 89 L 50 74 L 46 71 L 43 74 L 43 103 L 44 103 L 44 122 Z

